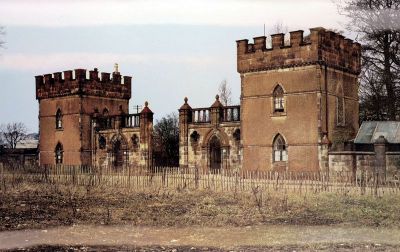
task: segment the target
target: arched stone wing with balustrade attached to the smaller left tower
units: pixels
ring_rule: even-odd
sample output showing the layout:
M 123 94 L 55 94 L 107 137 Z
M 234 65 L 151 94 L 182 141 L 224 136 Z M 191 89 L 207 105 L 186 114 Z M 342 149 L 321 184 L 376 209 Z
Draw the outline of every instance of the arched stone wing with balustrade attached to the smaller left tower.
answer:
M 93 163 L 103 170 L 152 167 L 153 112 L 146 102 L 139 114 L 93 118 L 103 124 L 93 136 Z M 104 128 L 104 120 L 106 122 Z M 120 155 L 122 161 L 116 159 Z

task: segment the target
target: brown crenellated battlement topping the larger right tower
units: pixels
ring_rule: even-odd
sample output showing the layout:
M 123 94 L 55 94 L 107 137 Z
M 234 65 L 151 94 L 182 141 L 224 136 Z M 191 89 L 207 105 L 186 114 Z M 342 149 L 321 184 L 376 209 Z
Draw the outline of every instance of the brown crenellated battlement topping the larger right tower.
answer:
M 271 48 L 267 48 L 265 36 L 255 37 L 253 44 L 247 39 L 236 41 L 237 71 L 247 73 L 319 64 L 357 75 L 360 73 L 359 43 L 320 27 L 312 28 L 310 32 L 307 39 L 301 30 L 290 32 L 289 45 L 285 45 L 284 34 L 271 35 Z

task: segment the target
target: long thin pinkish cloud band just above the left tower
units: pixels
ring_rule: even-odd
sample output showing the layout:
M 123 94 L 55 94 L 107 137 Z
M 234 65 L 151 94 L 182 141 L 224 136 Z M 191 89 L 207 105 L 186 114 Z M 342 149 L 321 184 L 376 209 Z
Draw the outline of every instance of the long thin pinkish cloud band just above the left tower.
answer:
M 29 54 L 13 53 L 0 57 L 0 67 L 7 70 L 37 73 L 56 72 L 75 68 L 92 68 L 132 64 L 184 64 L 194 67 L 212 67 L 221 64 L 221 59 L 204 55 L 173 54 L 118 54 L 118 53 L 51 53 Z M 104 69 L 105 71 L 108 71 Z M 111 69 L 110 69 L 111 70 Z

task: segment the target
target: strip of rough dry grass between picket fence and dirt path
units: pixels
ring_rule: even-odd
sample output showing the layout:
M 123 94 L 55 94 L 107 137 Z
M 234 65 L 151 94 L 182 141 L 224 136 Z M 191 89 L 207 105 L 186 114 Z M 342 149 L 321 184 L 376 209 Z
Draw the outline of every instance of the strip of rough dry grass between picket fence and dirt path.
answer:
M 0 229 L 59 225 L 400 226 L 400 199 L 385 195 L 218 193 L 27 184 L 0 192 Z

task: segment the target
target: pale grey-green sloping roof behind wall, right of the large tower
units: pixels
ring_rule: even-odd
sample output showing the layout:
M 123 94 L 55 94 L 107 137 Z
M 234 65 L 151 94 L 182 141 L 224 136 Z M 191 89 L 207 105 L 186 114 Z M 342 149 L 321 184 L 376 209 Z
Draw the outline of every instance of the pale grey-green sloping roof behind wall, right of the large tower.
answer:
M 400 143 L 400 122 L 370 121 L 363 122 L 354 143 L 371 144 L 379 136 L 384 136 L 389 143 Z

